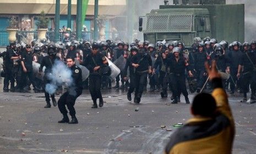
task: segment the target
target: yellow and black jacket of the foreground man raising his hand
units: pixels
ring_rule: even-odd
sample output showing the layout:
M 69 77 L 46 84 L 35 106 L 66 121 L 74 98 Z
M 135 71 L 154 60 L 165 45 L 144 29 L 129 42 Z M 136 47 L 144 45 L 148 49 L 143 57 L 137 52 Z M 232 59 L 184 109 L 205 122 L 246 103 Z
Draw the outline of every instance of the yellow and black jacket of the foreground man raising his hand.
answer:
M 213 82 L 221 82 L 220 79 L 214 80 Z M 166 154 L 232 153 L 235 124 L 227 95 L 222 88 L 215 88 L 212 95 L 217 104 L 216 117 L 189 119 L 182 128 L 172 134 L 165 149 Z

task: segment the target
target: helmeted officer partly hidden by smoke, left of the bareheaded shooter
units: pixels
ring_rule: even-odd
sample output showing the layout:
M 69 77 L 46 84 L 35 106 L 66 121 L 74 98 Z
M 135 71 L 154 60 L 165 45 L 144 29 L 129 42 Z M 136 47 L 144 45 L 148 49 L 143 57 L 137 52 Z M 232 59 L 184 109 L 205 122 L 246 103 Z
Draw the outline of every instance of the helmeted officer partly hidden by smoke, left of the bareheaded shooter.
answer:
M 52 73 L 52 67 L 55 65 L 57 60 L 60 60 L 56 56 L 56 47 L 54 44 L 49 44 L 47 47 L 48 55 L 43 57 L 39 71 L 42 72 L 43 66 L 45 66 L 45 76 L 43 76 L 43 92 L 45 92 L 46 106 L 45 108 L 50 108 L 50 94 L 46 92 L 46 84 L 51 83 L 50 74 Z M 57 101 L 55 99 L 55 94 L 51 94 L 53 106 L 57 106 Z

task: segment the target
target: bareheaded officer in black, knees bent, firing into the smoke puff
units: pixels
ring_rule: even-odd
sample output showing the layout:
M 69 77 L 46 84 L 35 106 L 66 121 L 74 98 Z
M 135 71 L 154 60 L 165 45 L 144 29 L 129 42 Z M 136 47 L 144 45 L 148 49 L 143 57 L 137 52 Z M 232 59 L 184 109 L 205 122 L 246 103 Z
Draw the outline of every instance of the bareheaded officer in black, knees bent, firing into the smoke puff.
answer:
M 63 115 L 63 119 L 61 121 L 58 121 L 58 123 L 77 124 L 78 119 L 75 116 L 74 105 L 75 105 L 75 100 L 83 92 L 81 69 L 77 65 L 75 65 L 75 59 L 71 57 L 67 57 L 67 66 L 72 71 L 73 84 L 71 84 L 68 87 L 67 92 L 62 94 L 58 100 L 58 108 Z M 70 122 L 67 115 L 68 111 L 65 105 L 67 105 L 69 114 L 72 118 Z

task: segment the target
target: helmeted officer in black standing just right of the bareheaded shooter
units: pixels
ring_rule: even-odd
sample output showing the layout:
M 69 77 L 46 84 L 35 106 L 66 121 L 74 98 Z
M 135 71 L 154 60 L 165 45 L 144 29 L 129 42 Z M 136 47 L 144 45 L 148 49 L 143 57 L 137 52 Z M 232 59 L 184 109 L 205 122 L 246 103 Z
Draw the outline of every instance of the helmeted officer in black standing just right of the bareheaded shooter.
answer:
M 97 42 L 91 44 L 92 52 L 88 55 L 85 66 L 90 71 L 89 76 L 89 90 L 91 93 L 91 99 L 93 101 L 92 108 L 97 108 L 97 99 L 99 99 L 99 106 L 103 106 L 103 99 L 101 95 L 101 69 L 107 66 L 107 59 L 104 55 L 98 52 L 99 45 Z

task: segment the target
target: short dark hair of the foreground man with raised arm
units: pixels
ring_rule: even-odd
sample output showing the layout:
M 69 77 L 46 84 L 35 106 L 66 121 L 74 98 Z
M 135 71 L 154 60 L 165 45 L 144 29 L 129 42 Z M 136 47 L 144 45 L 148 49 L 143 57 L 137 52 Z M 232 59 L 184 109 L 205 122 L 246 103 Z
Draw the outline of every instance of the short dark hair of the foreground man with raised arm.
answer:
M 194 115 L 205 117 L 214 116 L 216 110 L 216 101 L 211 94 L 200 93 L 195 96 L 192 103 Z

